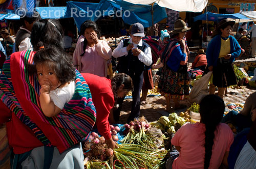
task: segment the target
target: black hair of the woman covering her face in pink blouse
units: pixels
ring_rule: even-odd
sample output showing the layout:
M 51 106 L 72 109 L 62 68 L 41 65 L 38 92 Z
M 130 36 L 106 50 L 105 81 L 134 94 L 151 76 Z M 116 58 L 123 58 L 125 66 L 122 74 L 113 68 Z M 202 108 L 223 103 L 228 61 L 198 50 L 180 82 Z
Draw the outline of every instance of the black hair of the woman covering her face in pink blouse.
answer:
M 100 38 L 100 31 L 98 29 L 98 26 L 94 21 L 91 21 L 91 20 L 87 20 L 81 24 L 81 26 L 80 26 L 81 35 L 84 35 L 84 31 L 86 31 L 86 29 L 89 29 L 89 28 L 93 29 L 96 32 L 97 37 Z M 83 53 L 81 54 L 81 57 L 86 52 L 86 46 L 87 46 L 87 39 L 86 39 L 86 37 L 84 37 Z

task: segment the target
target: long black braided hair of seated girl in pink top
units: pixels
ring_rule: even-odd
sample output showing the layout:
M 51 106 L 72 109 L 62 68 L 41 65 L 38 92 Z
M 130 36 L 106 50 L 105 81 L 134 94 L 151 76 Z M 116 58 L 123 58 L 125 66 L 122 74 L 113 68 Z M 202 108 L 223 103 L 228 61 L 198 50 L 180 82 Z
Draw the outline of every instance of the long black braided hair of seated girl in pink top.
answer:
M 205 155 L 204 168 L 207 169 L 210 164 L 212 146 L 214 145 L 215 130 L 221 122 L 225 110 L 225 103 L 217 95 L 207 95 L 200 102 L 201 123 L 205 124 Z

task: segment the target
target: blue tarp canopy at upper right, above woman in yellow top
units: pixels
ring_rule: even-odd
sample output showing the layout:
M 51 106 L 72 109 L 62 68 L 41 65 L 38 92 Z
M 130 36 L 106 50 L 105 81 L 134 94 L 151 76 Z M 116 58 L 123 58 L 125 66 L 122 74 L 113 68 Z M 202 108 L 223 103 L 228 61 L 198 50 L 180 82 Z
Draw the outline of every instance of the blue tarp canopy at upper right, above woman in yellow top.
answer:
M 206 13 L 207 13 L 207 18 L 206 19 Z M 216 14 L 216 13 L 211 13 L 211 12 L 206 12 L 204 14 L 198 15 L 194 18 L 194 21 L 197 20 L 209 20 L 209 21 L 216 21 L 216 20 L 221 20 L 225 18 L 230 18 L 230 19 L 250 19 L 247 18 L 246 16 L 240 14 L 240 13 L 235 13 L 235 14 Z

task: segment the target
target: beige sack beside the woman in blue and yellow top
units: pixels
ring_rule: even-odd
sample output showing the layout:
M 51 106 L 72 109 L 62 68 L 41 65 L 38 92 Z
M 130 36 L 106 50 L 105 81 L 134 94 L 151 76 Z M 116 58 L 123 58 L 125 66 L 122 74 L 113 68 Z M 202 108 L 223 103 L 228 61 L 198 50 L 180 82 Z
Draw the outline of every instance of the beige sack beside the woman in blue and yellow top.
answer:
M 199 103 L 204 96 L 208 95 L 208 83 L 211 74 L 212 71 L 209 71 L 203 77 L 195 81 L 194 86 L 189 93 L 189 100 L 191 103 Z

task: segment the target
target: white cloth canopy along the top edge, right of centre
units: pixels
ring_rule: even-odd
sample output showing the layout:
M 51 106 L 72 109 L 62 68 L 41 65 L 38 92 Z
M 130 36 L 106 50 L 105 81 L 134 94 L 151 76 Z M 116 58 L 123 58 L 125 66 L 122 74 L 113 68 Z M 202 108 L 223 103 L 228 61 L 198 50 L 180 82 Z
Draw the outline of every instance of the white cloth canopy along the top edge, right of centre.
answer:
M 202 12 L 206 7 L 207 0 L 123 0 L 133 4 L 150 5 L 152 3 L 158 4 L 161 7 L 169 8 L 175 11 L 190 11 Z

